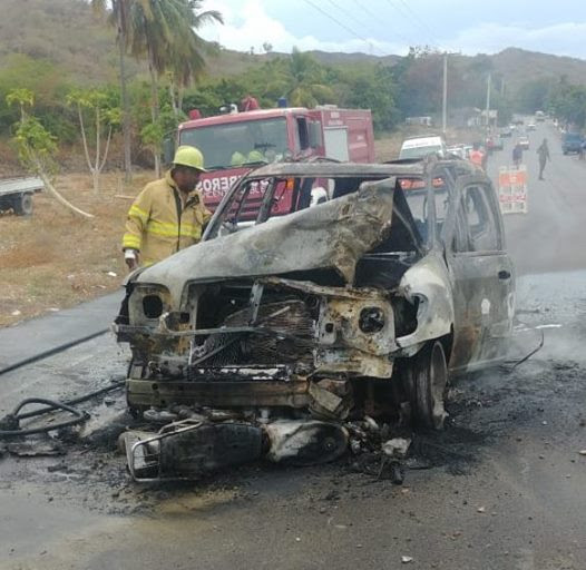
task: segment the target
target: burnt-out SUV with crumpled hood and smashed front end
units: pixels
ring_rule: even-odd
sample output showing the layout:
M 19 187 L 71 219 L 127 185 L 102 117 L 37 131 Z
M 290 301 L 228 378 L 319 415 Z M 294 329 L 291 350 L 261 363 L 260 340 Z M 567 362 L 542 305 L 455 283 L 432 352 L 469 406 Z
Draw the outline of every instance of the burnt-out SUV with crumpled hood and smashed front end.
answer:
M 312 205 L 318 187 L 329 199 Z M 279 460 L 301 440 L 335 454 L 348 433 L 331 426 L 353 417 L 441 428 L 449 376 L 501 357 L 514 307 L 484 173 L 291 163 L 248 174 L 202 243 L 133 274 L 115 331 L 133 351 L 130 409 L 175 422 L 143 455 L 212 419 L 216 443 L 242 430 Z

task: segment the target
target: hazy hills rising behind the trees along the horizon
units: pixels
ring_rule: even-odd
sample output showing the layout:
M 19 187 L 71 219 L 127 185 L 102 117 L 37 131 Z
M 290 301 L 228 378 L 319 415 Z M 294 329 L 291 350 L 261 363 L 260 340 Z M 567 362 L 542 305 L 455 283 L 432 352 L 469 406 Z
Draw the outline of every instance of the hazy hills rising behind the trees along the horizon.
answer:
M 117 50 L 114 30 L 104 26 L 86 0 L 2 0 L 0 20 L 0 67 L 10 53 L 26 53 L 59 66 L 76 81 L 104 82 L 117 78 Z M 326 65 L 384 62 L 393 65 L 400 58 L 367 53 L 333 53 L 313 51 Z M 211 76 L 231 76 L 284 53 L 250 55 L 219 50 L 208 58 Z M 482 57 L 482 56 L 480 56 Z M 461 60 L 475 58 L 462 56 Z M 495 72 L 502 75 L 509 92 L 529 79 L 559 78 L 586 85 L 586 61 L 582 59 L 537 53 L 508 48 L 489 56 Z M 128 58 L 129 76 L 145 71 L 141 63 Z

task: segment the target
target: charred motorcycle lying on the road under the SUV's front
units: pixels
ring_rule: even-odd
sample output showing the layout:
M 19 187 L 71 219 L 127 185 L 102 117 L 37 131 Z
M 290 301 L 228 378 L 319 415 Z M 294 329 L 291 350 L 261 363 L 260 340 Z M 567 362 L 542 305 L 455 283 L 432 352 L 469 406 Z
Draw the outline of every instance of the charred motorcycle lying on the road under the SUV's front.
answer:
M 333 461 L 348 449 L 348 431 L 316 420 L 207 422 L 184 420 L 158 433 L 123 434 L 128 470 L 137 482 L 192 480 L 261 456 L 307 465 Z

